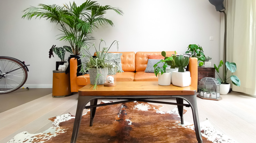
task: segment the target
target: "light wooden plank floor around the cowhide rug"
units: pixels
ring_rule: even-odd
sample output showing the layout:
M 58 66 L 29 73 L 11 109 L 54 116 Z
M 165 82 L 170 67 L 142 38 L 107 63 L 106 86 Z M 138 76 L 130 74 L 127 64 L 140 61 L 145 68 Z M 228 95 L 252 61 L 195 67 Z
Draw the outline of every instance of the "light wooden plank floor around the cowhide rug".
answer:
M 219 131 L 237 142 L 255 143 L 256 98 L 237 92 L 221 97 L 221 101 L 197 98 L 200 122 L 207 118 Z M 75 115 L 77 98 L 77 93 L 64 98 L 52 98 L 49 94 L 0 113 L 0 143 L 7 143 L 14 135 L 23 131 L 42 132 L 51 127 L 52 123 L 48 119 L 56 115 L 68 112 Z M 176 106 L 164 105 L 161 110 L 167 111 L 174 107 Z M 191 109 L 184 109 L 188 111 L 184 120 L 192 123 Z

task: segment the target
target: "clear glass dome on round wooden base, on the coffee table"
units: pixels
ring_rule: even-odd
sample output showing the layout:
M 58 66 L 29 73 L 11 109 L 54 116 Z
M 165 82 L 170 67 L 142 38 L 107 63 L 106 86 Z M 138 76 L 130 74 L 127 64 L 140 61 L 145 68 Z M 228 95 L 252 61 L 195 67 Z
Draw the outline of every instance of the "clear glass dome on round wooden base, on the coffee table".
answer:
M 105 87 L 114 87 L 117 85 L 117 65 L 113 62 L 107 62 L 108 75 L 105 80 Z

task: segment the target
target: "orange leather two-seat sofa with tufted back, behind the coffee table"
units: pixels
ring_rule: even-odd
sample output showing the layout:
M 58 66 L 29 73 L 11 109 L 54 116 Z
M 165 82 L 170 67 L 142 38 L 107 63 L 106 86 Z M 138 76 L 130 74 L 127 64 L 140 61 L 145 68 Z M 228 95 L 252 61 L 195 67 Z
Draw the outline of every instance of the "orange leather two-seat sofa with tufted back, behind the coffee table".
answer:
M 121 64 L 124 72 L 117 73 L 117 81 L 158 81 L 154 73 L 144 72 L 147 67 L 148 56 L 161 56 L 161 52 L 111 52 L 122 53 Z M 174 54 L 174 51 L 166 52 L 167 56 Z M 71 92 L 78 92 L 78 89 L 90 84 L 89 74 L 76 76 L 77 60 L 70 59 L 70 84 Z M 197 58 L 190 57 L 187 71 L 190 71 L 191 86 L 197 88 Z M 85 79 L 86 78 L 86 79 Z

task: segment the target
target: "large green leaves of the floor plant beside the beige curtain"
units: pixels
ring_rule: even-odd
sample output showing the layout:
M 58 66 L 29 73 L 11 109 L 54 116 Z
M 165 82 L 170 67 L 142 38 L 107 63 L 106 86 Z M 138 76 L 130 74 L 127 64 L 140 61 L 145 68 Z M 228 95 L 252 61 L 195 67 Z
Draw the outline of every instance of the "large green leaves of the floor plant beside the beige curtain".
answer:
M 228 70 L 226 69 L 226 72 L 224 73 L 224 78 L 223 79 L 218 74 L 219 69 L 222 65 L 223 65 L 223 60 L 220 61 L 220 64 L 219 64 L 218 67 L 214 64 L 215 71 L 216 71 L 217 75 L 219 76 L 219 78 L 217 79 L 219 81 L 219 83 L 226 84 L 228 81 L 231 80 L 234 85 L 240 87 L 241 82 L 240 82 L 240 79 L 236 75 L 231 75 L 230 77 L 226 78 L 228 70 L 231 71 L 231 73 L 236 71 L 236 63 L 231 63 L 231 62 L 226 61 L 225 65 L 226 65 Z

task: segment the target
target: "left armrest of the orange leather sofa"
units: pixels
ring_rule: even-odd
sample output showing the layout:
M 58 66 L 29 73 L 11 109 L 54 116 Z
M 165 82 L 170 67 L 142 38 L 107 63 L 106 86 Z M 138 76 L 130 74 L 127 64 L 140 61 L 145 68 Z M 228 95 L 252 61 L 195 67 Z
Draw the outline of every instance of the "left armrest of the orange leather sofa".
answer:
M 76 71 L 77 71 L 77 60 L 73 57 L 69 61 L 70 65 L 70 88 L 71 92 L 77 92 L 76 85 Z

